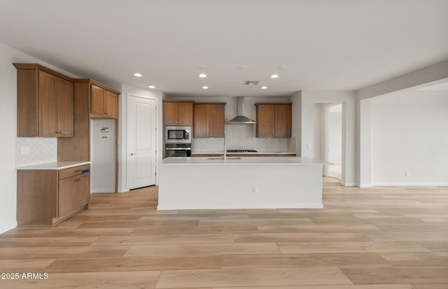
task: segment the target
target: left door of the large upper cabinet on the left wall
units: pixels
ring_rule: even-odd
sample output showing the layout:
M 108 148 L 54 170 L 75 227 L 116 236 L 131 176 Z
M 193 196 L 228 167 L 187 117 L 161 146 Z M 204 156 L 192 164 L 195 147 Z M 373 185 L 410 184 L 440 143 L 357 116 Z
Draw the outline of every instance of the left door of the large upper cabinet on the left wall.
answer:
M 39 136 L 57 136 L 57 94 L 58 77 L 43 71 L 38 72 L 38 106 L 39 106 Z

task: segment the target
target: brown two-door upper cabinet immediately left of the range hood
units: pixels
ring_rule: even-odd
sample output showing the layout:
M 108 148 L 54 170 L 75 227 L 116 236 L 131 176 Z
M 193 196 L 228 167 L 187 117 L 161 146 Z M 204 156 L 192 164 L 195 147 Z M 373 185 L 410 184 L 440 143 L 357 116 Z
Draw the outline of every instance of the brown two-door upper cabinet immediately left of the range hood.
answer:
M 224 137 L 225 102 L 195 103 L 193 137 Z

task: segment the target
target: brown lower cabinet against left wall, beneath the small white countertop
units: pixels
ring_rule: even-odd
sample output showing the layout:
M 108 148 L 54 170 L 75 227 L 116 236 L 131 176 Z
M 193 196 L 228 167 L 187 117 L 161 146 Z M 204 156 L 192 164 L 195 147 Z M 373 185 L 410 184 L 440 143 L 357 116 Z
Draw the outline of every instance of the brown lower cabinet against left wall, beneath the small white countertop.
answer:
M 90 164 L 18 170 L 17 177 L 18 225 L 54 225 L 89 205 Z

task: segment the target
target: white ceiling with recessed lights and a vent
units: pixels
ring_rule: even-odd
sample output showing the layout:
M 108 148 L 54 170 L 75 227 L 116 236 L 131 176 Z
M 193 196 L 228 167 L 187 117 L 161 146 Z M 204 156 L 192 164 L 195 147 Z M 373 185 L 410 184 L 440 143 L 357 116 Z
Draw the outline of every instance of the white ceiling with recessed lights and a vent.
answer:
M 1 0 L 0 43 L 168 95 L 358 90 L 448 59 L 448 1 Z

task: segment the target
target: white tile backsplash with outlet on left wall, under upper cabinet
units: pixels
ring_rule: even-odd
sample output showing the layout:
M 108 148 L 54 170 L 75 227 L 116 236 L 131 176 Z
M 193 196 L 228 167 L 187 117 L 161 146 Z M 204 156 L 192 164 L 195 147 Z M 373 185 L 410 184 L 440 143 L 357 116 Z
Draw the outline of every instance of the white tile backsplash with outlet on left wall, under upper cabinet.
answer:
M 22 155 L 22 148 L 29 148 L 29 154 Z M 18 137 L 15 139 L 15 165 L 41 164 L 57 161 L 57 138 Z

